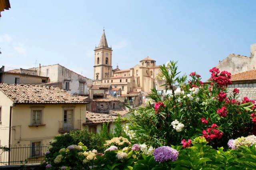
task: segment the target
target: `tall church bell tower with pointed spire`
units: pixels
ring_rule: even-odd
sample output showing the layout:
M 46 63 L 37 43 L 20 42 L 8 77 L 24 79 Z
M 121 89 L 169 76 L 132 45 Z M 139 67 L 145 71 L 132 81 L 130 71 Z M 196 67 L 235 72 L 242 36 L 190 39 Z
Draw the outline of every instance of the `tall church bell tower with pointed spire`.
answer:
M 94 49 L 94 78 L 93 84 L 100 84 L 102 80 L 112 76 L 112 48 L 108 47 L 108 42 L 103 30 L 100 43 Z

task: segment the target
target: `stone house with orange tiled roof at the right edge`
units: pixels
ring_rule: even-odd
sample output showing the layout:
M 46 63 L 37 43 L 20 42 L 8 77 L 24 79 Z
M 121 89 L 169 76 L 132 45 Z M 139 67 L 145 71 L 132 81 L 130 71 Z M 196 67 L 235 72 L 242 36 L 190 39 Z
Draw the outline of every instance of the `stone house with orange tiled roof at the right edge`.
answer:
M 228 89 L 232 91 L 237 88 L 239 92 L 238 100 L 248 97 L 251 100 L 256 100 L 256 70 L 249 70 L 232 75 L 232 84 Z

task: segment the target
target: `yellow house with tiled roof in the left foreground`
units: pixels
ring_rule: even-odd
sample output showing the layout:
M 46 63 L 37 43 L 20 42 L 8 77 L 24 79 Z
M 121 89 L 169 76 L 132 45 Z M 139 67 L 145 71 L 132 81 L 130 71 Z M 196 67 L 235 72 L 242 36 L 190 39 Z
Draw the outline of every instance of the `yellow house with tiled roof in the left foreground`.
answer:
M 28 161 L 43 156 L 40 147 L 54 136 L 81 130 L 83 122 L 86 102 L 65 90 L 44 85 L 0 84 L 1 146 L 32 146 L 27 151 Z M 9 156 L 12 161 L 20 155 Z

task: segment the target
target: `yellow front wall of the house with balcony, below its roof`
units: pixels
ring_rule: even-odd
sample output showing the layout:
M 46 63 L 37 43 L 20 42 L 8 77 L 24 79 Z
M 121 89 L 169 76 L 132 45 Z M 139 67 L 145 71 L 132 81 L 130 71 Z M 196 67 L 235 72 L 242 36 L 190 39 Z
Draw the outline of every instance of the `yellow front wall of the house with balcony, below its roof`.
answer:
M 42 124 L 44 126 L 29 126 L 31 124 L 31 109 L 43 108 Z M 48 144 L 54 136 L 59 134 L 59 121 L 63 121 L 63 109 L 74 107 L 73 120 L 86 119 L 86 105 L 16 105 L 12 109 L 12 145 L 31 144 L 31 142 L 41 141 Z M 82 126 L 81 126 L 82 127 Z

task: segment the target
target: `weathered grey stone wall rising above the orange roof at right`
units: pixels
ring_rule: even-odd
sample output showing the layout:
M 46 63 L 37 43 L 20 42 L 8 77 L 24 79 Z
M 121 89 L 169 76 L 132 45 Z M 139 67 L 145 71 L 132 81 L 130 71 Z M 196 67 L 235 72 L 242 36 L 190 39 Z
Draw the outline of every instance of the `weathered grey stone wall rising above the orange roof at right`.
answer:
M 227 70 L 231 74 L 244 72 L 256 68 L 256 44 L 250 46 L 250 57 L 229 54 L 228 57 L 217 64 L 220 71 Z

